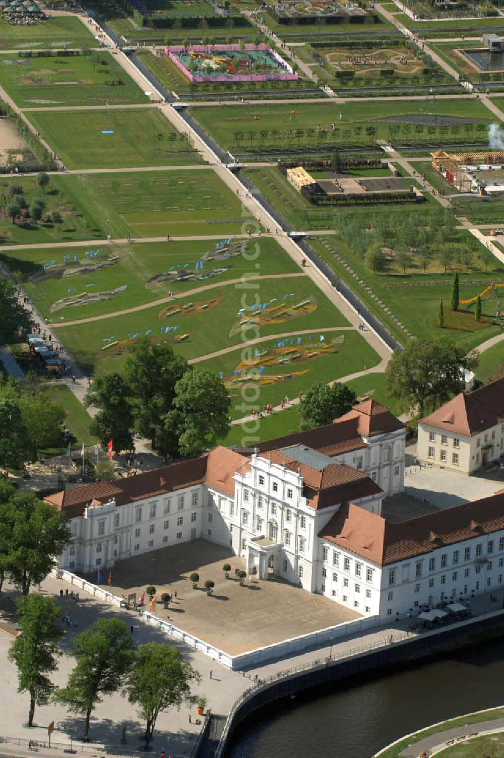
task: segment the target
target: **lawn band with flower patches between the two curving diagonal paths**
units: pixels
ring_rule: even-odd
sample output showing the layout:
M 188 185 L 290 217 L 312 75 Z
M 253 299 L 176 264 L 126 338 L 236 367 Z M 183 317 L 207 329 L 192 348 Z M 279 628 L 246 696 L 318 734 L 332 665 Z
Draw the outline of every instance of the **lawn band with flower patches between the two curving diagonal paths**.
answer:
M 123 284 L 123 281 L 117 279 L 117 286 Z M 250 284 L 250 283 L 249 283 Z M 70 349 L 77 361 L 83 368 L 94 374 L 104 374 L 108 371 L 120 369 L 124 365 L 125 356 L 114 356 L 107 350 L 102 351 L 104 340 L 113 337 L 114 341 L 128 340 L 129 334 L 145 334 L 146 331 L 152 330 L 151 338 L 158 340 L 168 340 L 173 342 L 170 334 L 161 334 L 161 327 L 177 327 L 178 335 L 189 334 L 186 341 L 177 343 L 177 352 L 180 352 L 186 359 L 206 356 L 212 352 L 226 348 L 230 345 L 239 346 L 243 341 L 253 339 L 257 330 L 249 328 L 246 334 L 242 335 L 239 330 L 235 334 L 230 334 L 233 325 L 239 323 L 239 309 L 243 305 L 251 305 L 255 302 L 255 295 L 258 294 L 260 302 L 269 302 L 277 297 L 280 302 L 280 296 L 283 293 L 290 296 L 292 305 L 305 302 L 310 297 L 315 298 L 316 309 L 311 312 L 296 315 L 296 318 L 286 318 L 284 321 L 270 324 L 261 323 L 259 332 L 261 336 L 268 337 L 274 334 L 284 334 L 294 330 L 321 330 L 325 327 L 346 326 L 346 319 L 343 315 L 320 293 L 317 287 L 308 277 L 298 277 L 296 279 L 286 279 L 280 284 L 275 280 L 261 280 L 258 282 L 258 290 L 243 290 L 237 286 L 214 287 L 204 293 L 193 295 L 189 298 L 180 298 L 177 306 L 180 313 L 172 317 L 160 319 L 159 313 L 165 306 L 154 306 L 149 309 L 136 312 L 130 315 L 114 316 L 102 321 L 91 321 L 72 327 L 59 327 L 58 335 L 64 344 Z M 184 313 L 183 305 L 194 303 L 208 302 L 211 299 L 223 297 L 217 305 L 208 310 L 200 312 Z M 117 310 L 127 309 L 129 306 L 127 290 L 114 299 L 114 306 Z M 65 313 L 65 318 L 78 318 L 77 309 L 72 309 L 71 315 Z M 294 312 L 296 313 L 296 312 Z M 56 314 L 55 328 L 59 321 Z M 242 317 L 244 318 L 244 317 Z M 172 333 L 173 334 L 173 333 Z M 98 357 L 98 359 L 96 359 Z

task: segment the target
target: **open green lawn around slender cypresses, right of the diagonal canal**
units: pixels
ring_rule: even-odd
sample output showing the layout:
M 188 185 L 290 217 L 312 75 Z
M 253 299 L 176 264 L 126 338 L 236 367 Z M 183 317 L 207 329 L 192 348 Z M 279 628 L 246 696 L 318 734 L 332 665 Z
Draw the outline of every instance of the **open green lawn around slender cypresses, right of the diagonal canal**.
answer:
M 475 252 L 480 249 L 479 243 L 471 240 L 469 233 L 459 232 L 454 236 L 459 243 L 471 247 Z M 368 305 L 369 308 L 380 318 L 383 324 L 391 333 L 402 343 L 405 343 L 407 337 L 404 332 L 395 324 L 391 315 L 388 315 L 381 309 L 371 295 L 366 292 L 365 286 L 360 286 L 355 278 L 349 274 L 343 266 L 343 263 L 334 257 L 331 251 L 337 252 L 347 265 L 351 266 L 353 271 L 360 277 L 365 285 L 371 287 L 371 290 L 380 300 L 390 309 L 393 315 L 402 322 L 415 335 L 415 337 L 451 337 L 455 342 L 464 346 L 465 349 L 472 349 L 478 344 L 484 342 L 489 337 L 499 333 L 499 327 L 493 326 L 492 318 L 495 315 L 496 297 L 493 293 L 488 294 L 482 299 L 482 311 L 484 318 L 481 322 L 474 321 L 474 305 L 461 305 L 457 313 L 452 313 L 449 309 L 449 301 L 452 290 L 452 273 L 439 273 L 440 266 L 437 265 L 436 251 L 437 246 L 433 246 L 433 265 L 427 274 L 420 273 L 419 265 L 410 267 L 406 274 L 402 270 L 393 270 L 388 273 L 373 274 L 369 271 L 361 258 L 343 243 L 339 236 L 331 236 L 326 241 L 330 249 L 322 243 L 322 240 L 311 240 L 311 246 L 320 257 L 327 262 L 337 276 L 345 280 L 350 287 L 358 294 L 359 298 Z M 493 276 L 502 278 L 501 265 L 496 259 L 493 259 Z M 477 295 L 487 287 L 488 276 L 490 272 L 485 272 L 476 255 L 471 258 L 471 268 L 459 266 L 460 277 L 460 297 L 468 299 Z M 479 283 L 465 283 L 479 282 Z M 437 310 L 440 299 L 443 299 L 445 327 L 440 330 L 437 327 Z

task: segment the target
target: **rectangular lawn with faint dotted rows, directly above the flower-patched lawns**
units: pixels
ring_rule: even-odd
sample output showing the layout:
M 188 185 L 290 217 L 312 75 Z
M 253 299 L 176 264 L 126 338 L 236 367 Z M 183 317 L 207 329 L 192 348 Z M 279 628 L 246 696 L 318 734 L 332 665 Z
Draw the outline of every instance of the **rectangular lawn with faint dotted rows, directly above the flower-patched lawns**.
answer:
M 225 236 L 243 225 L 239 200 L 210 169 L 80 174 L 71 180 L 93 218 L 103 218 L 105 226 L 116 218 L 121 236 Z

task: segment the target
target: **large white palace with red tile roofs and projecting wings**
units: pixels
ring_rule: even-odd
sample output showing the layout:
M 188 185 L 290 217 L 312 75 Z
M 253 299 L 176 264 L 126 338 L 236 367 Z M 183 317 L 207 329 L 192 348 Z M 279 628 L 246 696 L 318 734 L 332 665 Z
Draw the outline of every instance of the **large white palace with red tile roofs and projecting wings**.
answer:
M 95 572 L 203 538 L 362 615 L 396 618 L 502 584 L 504 490 L 399 524 L 405 428 L 372 400 L 333 424 L 48 496 L 67 513 L 60 568 Z

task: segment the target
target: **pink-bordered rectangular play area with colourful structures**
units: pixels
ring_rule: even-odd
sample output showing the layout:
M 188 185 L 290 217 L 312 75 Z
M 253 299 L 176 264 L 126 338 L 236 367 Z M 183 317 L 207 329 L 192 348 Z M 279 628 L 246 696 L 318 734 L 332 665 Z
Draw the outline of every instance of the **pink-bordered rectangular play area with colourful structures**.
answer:
M 192 82 L 296 80 L 292 66 L 268 45 L 169 45 L 164 55 Z

